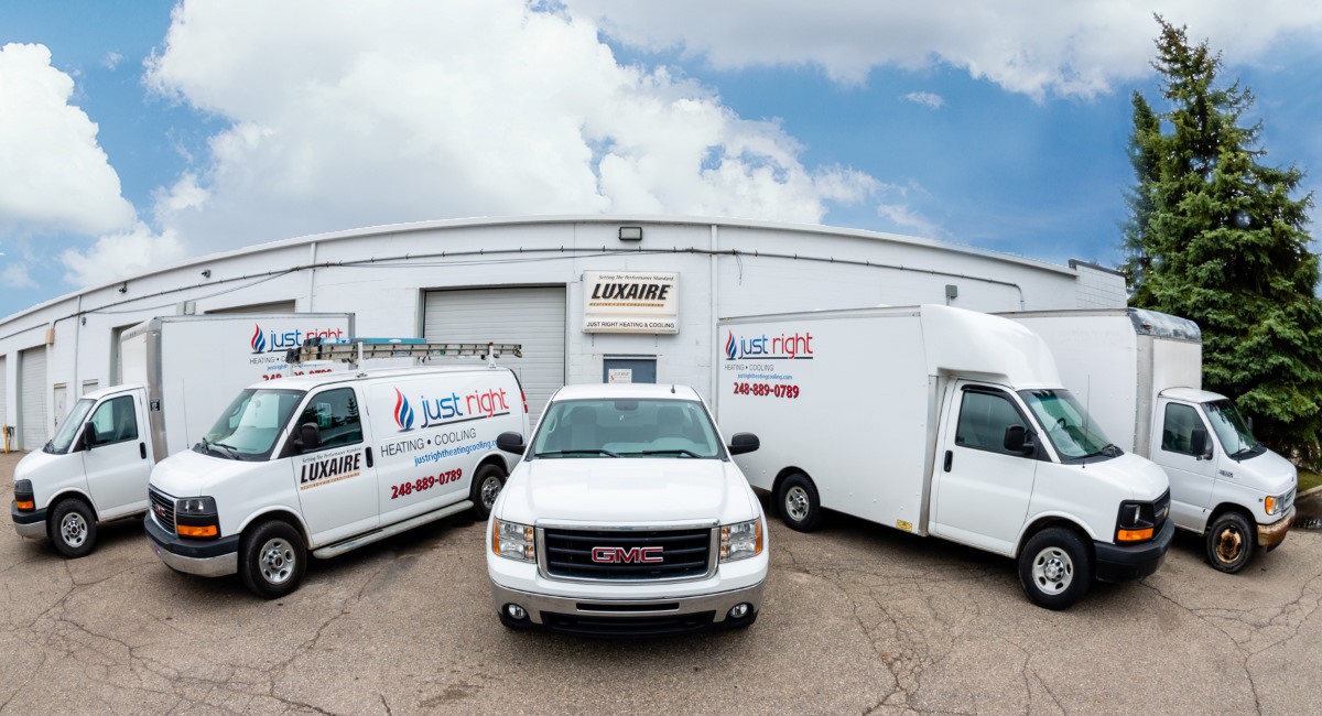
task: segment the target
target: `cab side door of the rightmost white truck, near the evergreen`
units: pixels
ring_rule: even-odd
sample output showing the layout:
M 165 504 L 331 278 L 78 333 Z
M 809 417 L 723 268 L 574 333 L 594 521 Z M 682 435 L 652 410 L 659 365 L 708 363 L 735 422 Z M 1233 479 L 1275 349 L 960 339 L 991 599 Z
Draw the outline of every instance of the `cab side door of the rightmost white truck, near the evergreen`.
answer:
M 1166 470 L 1170 480 L 1170 514 L 1175 524 L 1202 531 L 1207 526 L 1207 509 L 1216 478 L 1215 433 L 1203 420 L 1202 411 L 1187 403 L 1162 398 L 1157 403 L 1157 425 L 1153 435 L 1151 461 Z M 1203 457 L 1194 445 L 1202 431 L 1204 445 L 1214 456 Z

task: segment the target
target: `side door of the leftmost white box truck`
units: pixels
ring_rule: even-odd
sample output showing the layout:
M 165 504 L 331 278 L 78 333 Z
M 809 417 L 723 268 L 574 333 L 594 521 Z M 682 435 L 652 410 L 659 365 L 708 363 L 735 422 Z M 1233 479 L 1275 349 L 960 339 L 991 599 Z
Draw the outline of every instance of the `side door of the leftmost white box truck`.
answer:
M 87 490 L 98 519 L 147 510 L 151 453 L 141 423 L 141 400 L 132 395 L 106 398 L 85 423 L 82 460 Z

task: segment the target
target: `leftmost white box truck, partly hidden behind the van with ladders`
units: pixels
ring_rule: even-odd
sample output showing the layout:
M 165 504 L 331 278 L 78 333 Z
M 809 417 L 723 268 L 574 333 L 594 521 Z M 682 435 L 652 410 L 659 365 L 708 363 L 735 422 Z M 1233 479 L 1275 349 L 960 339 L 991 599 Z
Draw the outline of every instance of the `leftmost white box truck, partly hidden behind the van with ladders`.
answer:
M 15 468 L 15 528 L 66 557 L 97 544 L 97 523 L 147 510 L 147 477 L 197 443 L 234 392 L 254 380 L 329 373 L 290 367 L 304 340 L 342 338 L 352 313 L 237 313 L 152 318 L 120 341 L 124 383 L 83 395 L 56 436 Z

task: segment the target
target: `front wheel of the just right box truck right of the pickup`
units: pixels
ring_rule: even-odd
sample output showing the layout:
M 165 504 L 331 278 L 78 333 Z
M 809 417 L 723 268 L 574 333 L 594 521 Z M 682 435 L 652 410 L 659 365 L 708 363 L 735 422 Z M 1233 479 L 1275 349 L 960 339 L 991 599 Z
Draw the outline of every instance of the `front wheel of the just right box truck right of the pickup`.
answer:
M 1047 527 L 1019 552 L 1019 584 L 1046 609 L 1067 609 L 1092 585 L 1092 556 L 1073 530 Z

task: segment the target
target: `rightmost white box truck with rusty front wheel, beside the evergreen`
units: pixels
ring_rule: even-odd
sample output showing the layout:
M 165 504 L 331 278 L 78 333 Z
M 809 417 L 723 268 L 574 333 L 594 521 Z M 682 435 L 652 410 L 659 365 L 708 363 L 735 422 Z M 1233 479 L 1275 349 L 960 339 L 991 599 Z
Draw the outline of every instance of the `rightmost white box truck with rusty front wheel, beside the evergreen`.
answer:
M 1175 526 L 1208 563 L 1239 572 L 1285 540 L 1298 472 L 1263 447 L 1229 398 L 1200 390 L 1203 343 L 1187 318 L 1137 308 L 1005 313 L 1056 355 L 1060 378 L 1125 450 L 1170 478 Z

